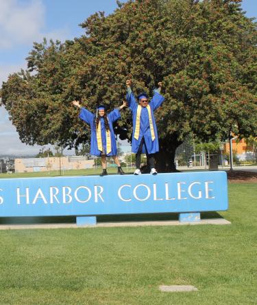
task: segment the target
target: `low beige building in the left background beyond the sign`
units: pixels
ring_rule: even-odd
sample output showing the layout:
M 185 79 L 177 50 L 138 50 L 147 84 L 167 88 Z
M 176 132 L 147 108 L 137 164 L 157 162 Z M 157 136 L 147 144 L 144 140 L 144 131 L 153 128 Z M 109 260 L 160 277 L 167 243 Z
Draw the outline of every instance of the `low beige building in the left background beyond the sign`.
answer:
M 15 172 L 47 172 L 49 170 L 84 170 L 93 168 L 94 160 L 86 157 L 47 157 L 15 159 Z

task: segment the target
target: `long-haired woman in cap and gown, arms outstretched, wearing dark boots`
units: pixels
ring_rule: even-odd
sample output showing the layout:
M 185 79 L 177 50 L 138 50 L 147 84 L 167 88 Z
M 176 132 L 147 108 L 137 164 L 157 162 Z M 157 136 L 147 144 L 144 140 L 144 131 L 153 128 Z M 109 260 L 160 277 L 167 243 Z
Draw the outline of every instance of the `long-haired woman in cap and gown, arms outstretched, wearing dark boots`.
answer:
M 109 114 L 106 114 L 106 107 L 103 105 L 97 107 L 97 115 L 82 107 L 78 101 L 73 101 L 73 105 L 80 108 L 79 118 L 88 123 L 91 127 L 91 143 L 90 154 L 101 156 L 101 165 L 103 172 L 100 176 L 106 176 L 106 156 L 112 157 L 118 166 L 118 174 L 125 174 L 117 157 L 117 144 L 113 131 L 112 123 L 119 120 L 121 115 L 119 110 L 127 106 L 123 101 L 123 105 L 119 109 L 114 109 Z

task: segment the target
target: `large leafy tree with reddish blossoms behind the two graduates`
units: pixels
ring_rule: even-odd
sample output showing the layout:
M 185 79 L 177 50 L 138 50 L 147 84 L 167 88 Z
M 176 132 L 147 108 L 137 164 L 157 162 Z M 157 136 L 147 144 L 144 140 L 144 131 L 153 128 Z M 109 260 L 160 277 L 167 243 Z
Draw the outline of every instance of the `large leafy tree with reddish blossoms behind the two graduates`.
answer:
M 173 170 L 175 149 L 188 134 L 208 142 L 225 140 L 229 131 L 256 133 L 256 23 L 241 0 L 117 3 L 113 14 L 84 21 L 80 38 L 35 43 L 28 70 L 3 83 L 2 103 L 23 142 L 88 142 L 71 101 L 79 98 L 92 111 L 101 101 L 112 108 L 129 78 L 136 94 L 164 84 L 166 101 L 156 112 L 161 171 Z M 118 124 L 117 133 L 130 140 L 129 111 Z

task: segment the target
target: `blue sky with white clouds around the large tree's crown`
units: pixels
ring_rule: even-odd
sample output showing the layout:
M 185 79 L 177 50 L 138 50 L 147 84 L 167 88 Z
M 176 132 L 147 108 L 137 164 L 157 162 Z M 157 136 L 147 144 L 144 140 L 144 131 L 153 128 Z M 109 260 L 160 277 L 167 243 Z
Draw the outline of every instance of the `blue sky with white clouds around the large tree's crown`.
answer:
M 257 16 L 257 0 L 243 0 L 242 6 L 248 17 Z M 79 37 L 84 34 L 79 23 L 97 11 L 111 14 L 116 8 L 116 0 L 0 0 L 0 86 L 12 72 L 26 68 L 33 42 Z M 21 143 L 8 112 L 0 107 L 0 155 L 32 155 L 39 149 Z

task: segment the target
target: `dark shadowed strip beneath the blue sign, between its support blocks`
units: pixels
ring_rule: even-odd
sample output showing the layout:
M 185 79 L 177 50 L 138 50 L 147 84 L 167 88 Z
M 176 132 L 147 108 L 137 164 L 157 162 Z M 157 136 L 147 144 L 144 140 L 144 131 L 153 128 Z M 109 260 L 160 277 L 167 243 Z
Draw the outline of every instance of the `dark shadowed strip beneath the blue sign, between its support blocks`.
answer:
M 99 215 L 100 222 L 154 222 L 178 220 L 178 213 L 151 213 L 151 214 L 125 214 L 125 215 Z M 201 219 L 223 218 L 217 212 L 203 212 Z M 75 224 L 75 216 L 60 217 L 0 217 L 1 224 Z

